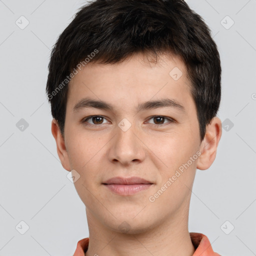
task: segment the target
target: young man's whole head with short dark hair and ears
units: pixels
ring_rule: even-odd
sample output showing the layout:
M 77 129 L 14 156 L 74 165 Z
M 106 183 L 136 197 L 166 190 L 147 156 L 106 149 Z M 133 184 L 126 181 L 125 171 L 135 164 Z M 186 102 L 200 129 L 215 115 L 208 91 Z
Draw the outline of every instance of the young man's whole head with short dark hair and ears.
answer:
M 87 214 L 129 232 L 187 217 L 195 170 L 221 136 L 220 60 L 202 18 L 183 0 L 92 1 L 48 67 L 52 134 Z M 115 176 L 151 185 L 120 195 L 105 185 Z

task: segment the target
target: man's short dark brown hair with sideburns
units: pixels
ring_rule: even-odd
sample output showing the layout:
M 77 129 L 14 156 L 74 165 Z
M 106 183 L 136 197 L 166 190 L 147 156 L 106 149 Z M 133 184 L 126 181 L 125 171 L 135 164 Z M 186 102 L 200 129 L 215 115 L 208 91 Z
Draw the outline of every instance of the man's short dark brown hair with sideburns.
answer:
M 77 64 L 84 66 L 86 58 L 116 63 L 138 52 L 154 53 L 156 62 L 160 52 L 182 59 L 203 139 L 220 104 L 220 59 L 208 26 L 183 0 L 95 0 L 79 8 L 59 35 L 48 65 L 46 93 L 62 135 L 66 85 Z

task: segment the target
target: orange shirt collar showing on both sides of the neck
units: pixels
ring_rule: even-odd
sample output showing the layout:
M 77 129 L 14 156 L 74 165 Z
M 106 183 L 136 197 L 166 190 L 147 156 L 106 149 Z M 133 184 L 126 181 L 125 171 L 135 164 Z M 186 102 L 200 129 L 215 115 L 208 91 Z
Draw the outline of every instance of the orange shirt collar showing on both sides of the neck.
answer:
M 190 238 L 195 248 L 193 256 L 220 256 L 212 250 L 209 239 L 206 235 L 202 233 L 190 233 Z M 84 252 L 88 249 L 88 244 L 88 237 L 79 240 L 73 256 L 84 256 Z

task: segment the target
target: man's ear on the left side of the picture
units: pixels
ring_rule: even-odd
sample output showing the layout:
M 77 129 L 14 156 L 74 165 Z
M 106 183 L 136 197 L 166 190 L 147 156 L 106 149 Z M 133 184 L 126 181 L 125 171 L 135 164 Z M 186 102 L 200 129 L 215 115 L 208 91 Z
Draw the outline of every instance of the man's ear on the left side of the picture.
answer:
M 57 153 L 58 153 L 60 162 L 64 169 L 70 171 L 71 169 L 70 169 L 69 159 L 68 159 L 67 150 L 65 146 L 65 140 L 60 132 L 58 123 L 54 118 L 51 121 L 51 133 L 56 140 Z

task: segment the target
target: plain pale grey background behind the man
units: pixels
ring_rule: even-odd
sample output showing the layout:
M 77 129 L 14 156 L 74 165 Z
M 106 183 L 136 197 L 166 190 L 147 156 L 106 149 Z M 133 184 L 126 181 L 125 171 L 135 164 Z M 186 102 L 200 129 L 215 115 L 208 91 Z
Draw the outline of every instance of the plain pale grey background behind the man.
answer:
M 88 236 L 85 206 L 57 156 L 45 94 L 50 49 L 84 3 L 0 0 L 1 256 L 72 255 L 77 241 Z M 214 163 L 196 172 L 189 231 L 206 234 L 223 256 L 256 255 L 256 0 L 187 3 L 218 45 L 218 116 L 227 119 Z M 21 15 L 29 21 L 24 29 L 15 23 Z M 29 226 L 24 234 L 21 220 Z

